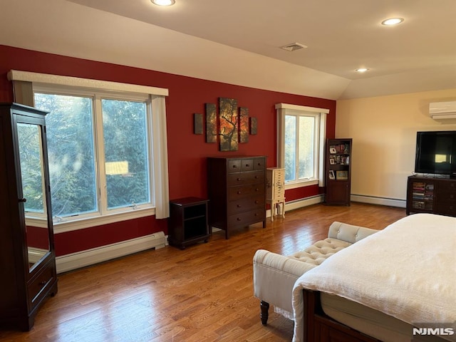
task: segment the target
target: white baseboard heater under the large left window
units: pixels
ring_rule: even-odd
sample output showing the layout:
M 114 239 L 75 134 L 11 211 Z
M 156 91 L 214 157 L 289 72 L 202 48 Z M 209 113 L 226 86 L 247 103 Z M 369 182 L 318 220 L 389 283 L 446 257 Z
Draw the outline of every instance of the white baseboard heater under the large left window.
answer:
M 98 264 L 103 261 L 125 257 L 125 255 L 145 251 L 146 249 L 159 249 L 165 247 L 165 233 L 157 232 L 116 244 L 87 249 L 73 254 L 56 257 L 57 273 L 73 271 L 81 267 Z

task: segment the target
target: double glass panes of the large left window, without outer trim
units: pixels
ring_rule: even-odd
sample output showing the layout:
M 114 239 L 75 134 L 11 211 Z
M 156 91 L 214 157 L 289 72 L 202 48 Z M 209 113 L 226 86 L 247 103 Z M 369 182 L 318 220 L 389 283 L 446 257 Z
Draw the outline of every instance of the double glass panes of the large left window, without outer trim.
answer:
M 54 219 L 152 207 L 147 97 L 41 90 Z

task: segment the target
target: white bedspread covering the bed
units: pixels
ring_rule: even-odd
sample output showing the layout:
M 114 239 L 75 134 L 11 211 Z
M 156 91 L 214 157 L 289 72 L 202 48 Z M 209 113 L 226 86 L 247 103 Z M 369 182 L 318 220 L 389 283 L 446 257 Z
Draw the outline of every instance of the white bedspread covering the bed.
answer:
M 413 214 L 343 249 L 294 286 L 294 342 L 302 289 L 356 301 L 407 323 L 456 321 L 456 218 Z

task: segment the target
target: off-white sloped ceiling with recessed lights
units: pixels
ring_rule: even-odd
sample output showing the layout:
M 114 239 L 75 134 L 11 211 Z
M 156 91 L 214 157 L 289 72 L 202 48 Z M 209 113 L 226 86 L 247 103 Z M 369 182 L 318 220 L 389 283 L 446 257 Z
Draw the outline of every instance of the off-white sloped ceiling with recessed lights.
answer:
M 0 6 L 0 44 L 9 46 L 331 99 L 456 88 L 455 0 L 176 0 L 167 8 L 150 0 L 0 0 Z M 405 21 L 380 24 L 392 16 Z M 308 48 L 279 48 L 294 42 Z M 359 67 L 369 71 L 356 73 Z

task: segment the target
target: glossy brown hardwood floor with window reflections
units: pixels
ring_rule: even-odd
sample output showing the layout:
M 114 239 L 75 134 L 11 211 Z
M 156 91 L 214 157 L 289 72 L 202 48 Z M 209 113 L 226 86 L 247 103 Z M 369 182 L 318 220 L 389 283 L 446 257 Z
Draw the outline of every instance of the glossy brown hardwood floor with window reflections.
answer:
M 334 221 L 383 229 L 405 209 L 352 203 L 286 212 L 207 244 L 141 252 L 58 276 L 28 333 L 0 331 L 0 341 L 168 342 L 291 341 L 293 322 L 269 309 L 267 326 L 253 296 L 257 249 L 291 254 L 326 237 Z

